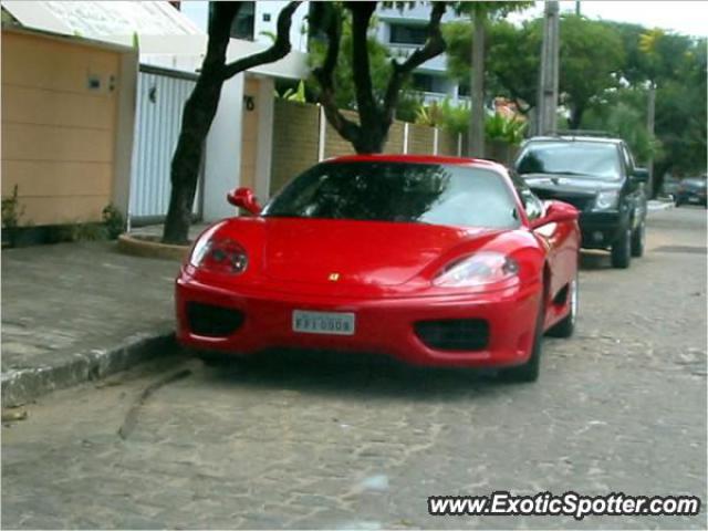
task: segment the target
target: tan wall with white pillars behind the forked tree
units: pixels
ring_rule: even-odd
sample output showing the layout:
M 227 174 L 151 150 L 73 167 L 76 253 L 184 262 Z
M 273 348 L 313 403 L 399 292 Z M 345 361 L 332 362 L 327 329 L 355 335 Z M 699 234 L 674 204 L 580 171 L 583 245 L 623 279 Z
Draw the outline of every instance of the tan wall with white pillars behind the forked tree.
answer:
M 356 113 L 343 111 L 356 121 Z M 324 121 L 321 123 L 321 121 Z M 404 122 L 394 122 L 388 129 L 385 153 L 415 155 L 435 154 L 435 128 L 407 124 L 407 145 Z M 438 129 L 438 155 L 457 156 L 457 137 Z M 278 192 L 288 180 L 316 164 L 320 158 L 353 155 L 352 145 L 324 118 L 320 106 L 275 100 L 273 108 L 272 171 L 270 195 Z M 320 156 L 321 155 L 321 156 Z

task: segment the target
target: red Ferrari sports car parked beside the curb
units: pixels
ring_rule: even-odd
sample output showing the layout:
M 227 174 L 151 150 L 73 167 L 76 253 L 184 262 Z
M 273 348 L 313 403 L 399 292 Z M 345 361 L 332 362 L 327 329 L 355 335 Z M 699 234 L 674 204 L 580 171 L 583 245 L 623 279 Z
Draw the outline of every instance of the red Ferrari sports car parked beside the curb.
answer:
M 241 356 L 382 353 L 534 381 L 577 312 L 577 211 L 496 163 L 362 155 L 313 166 L 208 228 L 176 281 L 177 336 Z

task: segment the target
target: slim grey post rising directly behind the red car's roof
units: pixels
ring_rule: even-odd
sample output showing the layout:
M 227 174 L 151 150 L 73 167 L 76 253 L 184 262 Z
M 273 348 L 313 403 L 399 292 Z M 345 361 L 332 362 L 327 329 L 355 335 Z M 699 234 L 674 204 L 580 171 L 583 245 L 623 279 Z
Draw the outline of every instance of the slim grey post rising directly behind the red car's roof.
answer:
M 485 157 L 485 18 L 486 13 L 479 10 L 475 13 L 475 30 L 472 33 L 472 69 L 471 86 L 471 116 L 469 124 L 470 157 Z

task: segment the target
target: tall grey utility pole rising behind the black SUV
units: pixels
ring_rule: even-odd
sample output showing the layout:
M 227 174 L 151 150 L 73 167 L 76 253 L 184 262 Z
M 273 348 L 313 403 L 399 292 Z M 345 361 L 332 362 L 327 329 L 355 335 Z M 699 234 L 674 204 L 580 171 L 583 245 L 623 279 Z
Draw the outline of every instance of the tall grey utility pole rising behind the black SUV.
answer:
M 558 76 L 560 14 L 558 1 L 546 1 L 541 49 L 541 75 L 539 76 L 539 114 L 537 133 L 554 134 L 558 126 Z

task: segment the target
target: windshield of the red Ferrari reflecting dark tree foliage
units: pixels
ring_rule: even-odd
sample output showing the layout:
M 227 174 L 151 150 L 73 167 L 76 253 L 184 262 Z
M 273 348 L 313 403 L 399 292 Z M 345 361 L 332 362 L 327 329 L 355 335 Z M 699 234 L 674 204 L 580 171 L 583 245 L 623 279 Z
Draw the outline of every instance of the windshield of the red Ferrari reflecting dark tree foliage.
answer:
M 470 166 L 392 162 L 319 164 L 292 180 L 263 216 L 519 226 L 512 192 L 498 173 Z

